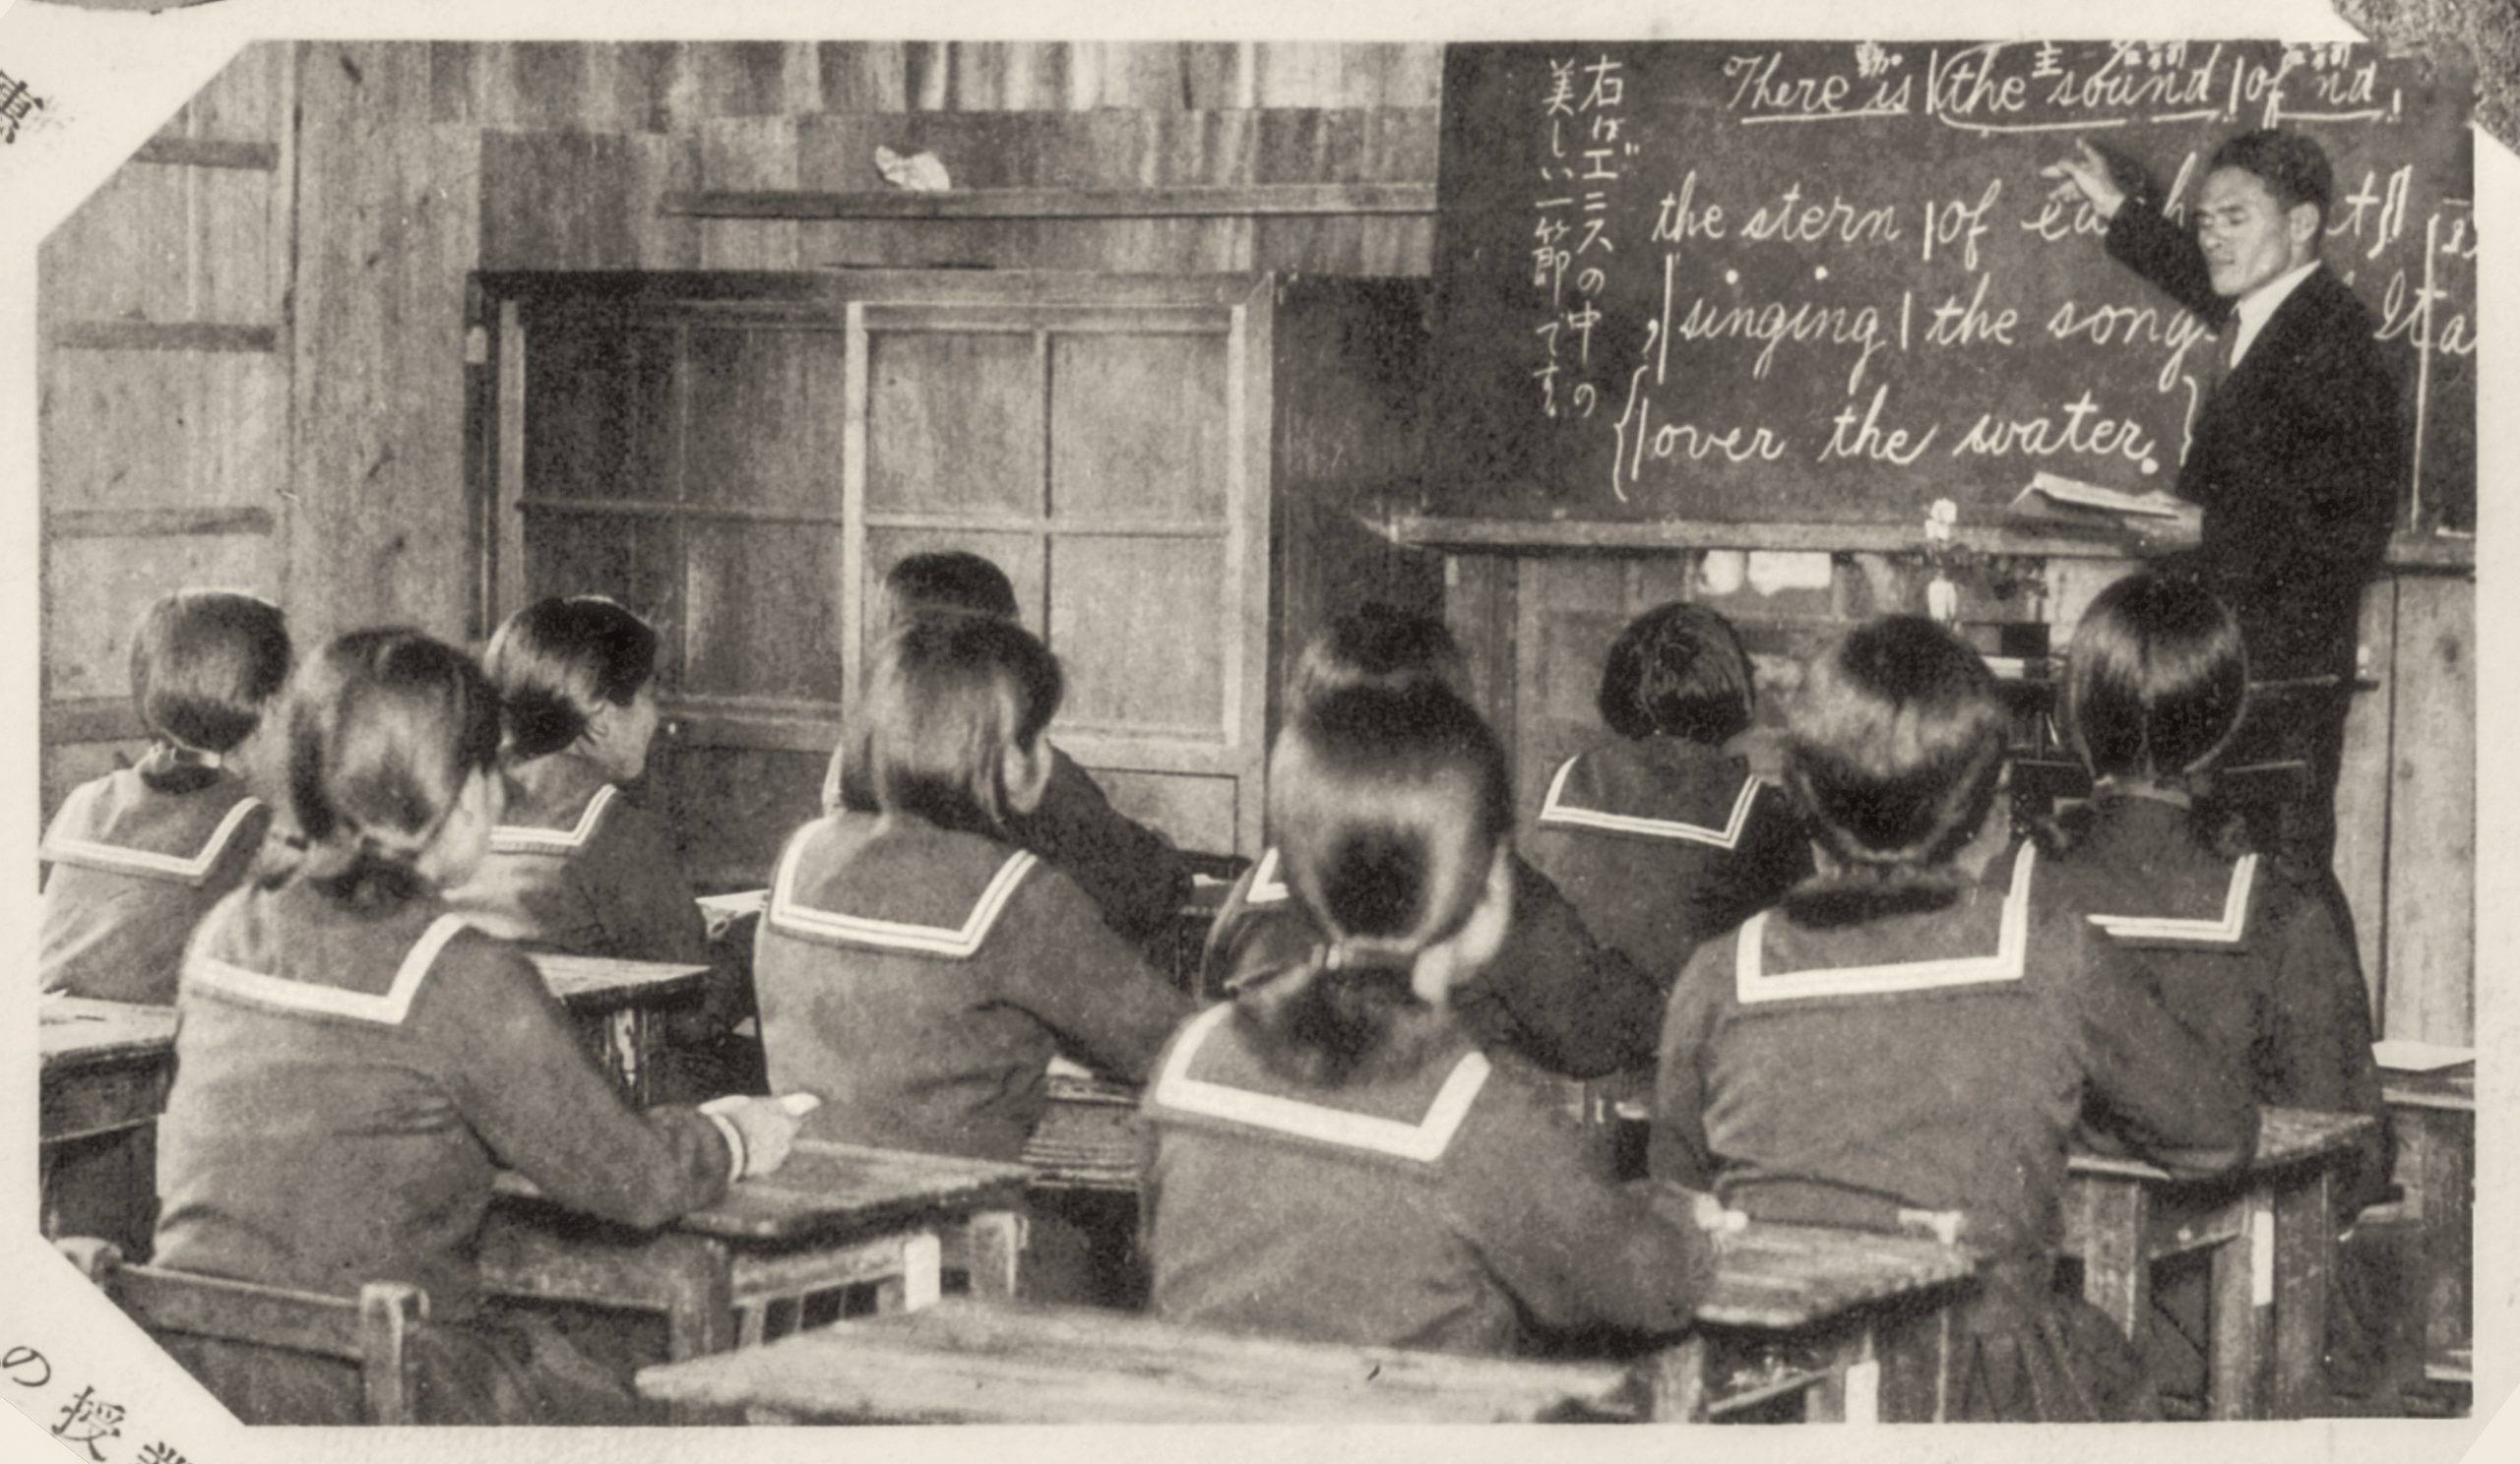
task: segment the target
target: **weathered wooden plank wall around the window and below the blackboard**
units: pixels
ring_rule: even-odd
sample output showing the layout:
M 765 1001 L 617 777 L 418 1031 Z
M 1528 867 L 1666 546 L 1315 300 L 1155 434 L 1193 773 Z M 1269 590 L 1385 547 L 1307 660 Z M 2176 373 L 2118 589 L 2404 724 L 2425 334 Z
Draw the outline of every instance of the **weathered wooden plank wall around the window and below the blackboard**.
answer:
M 1426 217 L 791 222 L 696 189 L 874 189 L 874 149 L 965 186 L 1404 181 L 1436 171 L 1436 45 L 260 43 L 43 252 L 45 806 L 126 751 L 121 635 L 174 582 L 277 592 L 302 643 L 378 620 L 479 638 L 464 275 L 1000 265 L 1426 275 Z M 295 126 L 292 126 L 295 118 Z M 1704 595 L 1777 683 L 1910 605 L 1850 554 L 1464 554 L 1449 612 L 1522 776 L 1590 733 L 1633 610 Z M 1782 582 L 1779 582 L 1782 577 Z M 2071 625 L 2104 567 L 2051 564 Z M 2472 1026 L 2472 585 L 2366 607 L 2339 867 L 2391 1036 Z

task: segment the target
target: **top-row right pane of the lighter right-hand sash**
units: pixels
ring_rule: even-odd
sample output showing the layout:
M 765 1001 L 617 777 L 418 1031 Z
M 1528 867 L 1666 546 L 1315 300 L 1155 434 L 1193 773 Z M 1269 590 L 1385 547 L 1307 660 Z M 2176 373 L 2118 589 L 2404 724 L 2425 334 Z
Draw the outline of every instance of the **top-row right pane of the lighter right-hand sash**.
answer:
M 1056 335 L 1051 509 L 1225 517 L 1225 335 Z

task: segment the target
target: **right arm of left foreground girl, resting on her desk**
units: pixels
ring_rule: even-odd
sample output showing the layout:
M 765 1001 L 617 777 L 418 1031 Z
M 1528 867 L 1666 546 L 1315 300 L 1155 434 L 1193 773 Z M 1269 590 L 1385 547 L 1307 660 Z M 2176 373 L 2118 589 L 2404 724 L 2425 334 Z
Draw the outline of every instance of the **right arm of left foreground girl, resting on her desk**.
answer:
M 622 1104 L 514 947 L 479 932 L 449 940 L 411 1021 L 446 1053 L 464 1121 L 552 1199 L 655 1227 L 726 1194 L 718 1126 L 693 1109 Z

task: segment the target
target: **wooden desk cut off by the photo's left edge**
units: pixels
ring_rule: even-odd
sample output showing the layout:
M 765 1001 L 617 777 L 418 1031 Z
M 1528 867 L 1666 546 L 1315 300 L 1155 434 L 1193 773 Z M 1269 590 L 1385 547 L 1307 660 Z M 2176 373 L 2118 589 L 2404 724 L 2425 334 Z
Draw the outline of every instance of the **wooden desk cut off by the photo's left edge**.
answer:
M 38 1013 L 43 1232 L 96 1235 L 146 1257 L 174 1008 L 45 995 Z

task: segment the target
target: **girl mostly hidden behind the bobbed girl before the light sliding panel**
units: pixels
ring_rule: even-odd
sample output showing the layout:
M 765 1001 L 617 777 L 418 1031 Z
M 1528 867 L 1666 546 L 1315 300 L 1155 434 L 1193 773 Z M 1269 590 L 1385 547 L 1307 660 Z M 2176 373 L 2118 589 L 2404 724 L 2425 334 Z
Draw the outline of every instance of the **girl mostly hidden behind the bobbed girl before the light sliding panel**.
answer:
M 910 554 L 885 575 L 885 625 L 900 627 L 917 615 L 990 615 L 1021 622 L 1016 587 L 1003 569 L 963 549 Z M 1013 844 L 1048 859 L 1074 879 L 1104 925 L 1134 945 L 1164 932 L 1189 897 L 1189 864 L 1172 839 L 1111 806 L 1094 774 L 1084 771 L 1056 743 L 1048 746 L 1051 781 L 1031 809 L 1008 809 L 1005 834 Z M 844 806 L 842 756 L 832 756 L 824 776 L 824 811 Z M 872 811 L 859 799 L 847 804 Z

